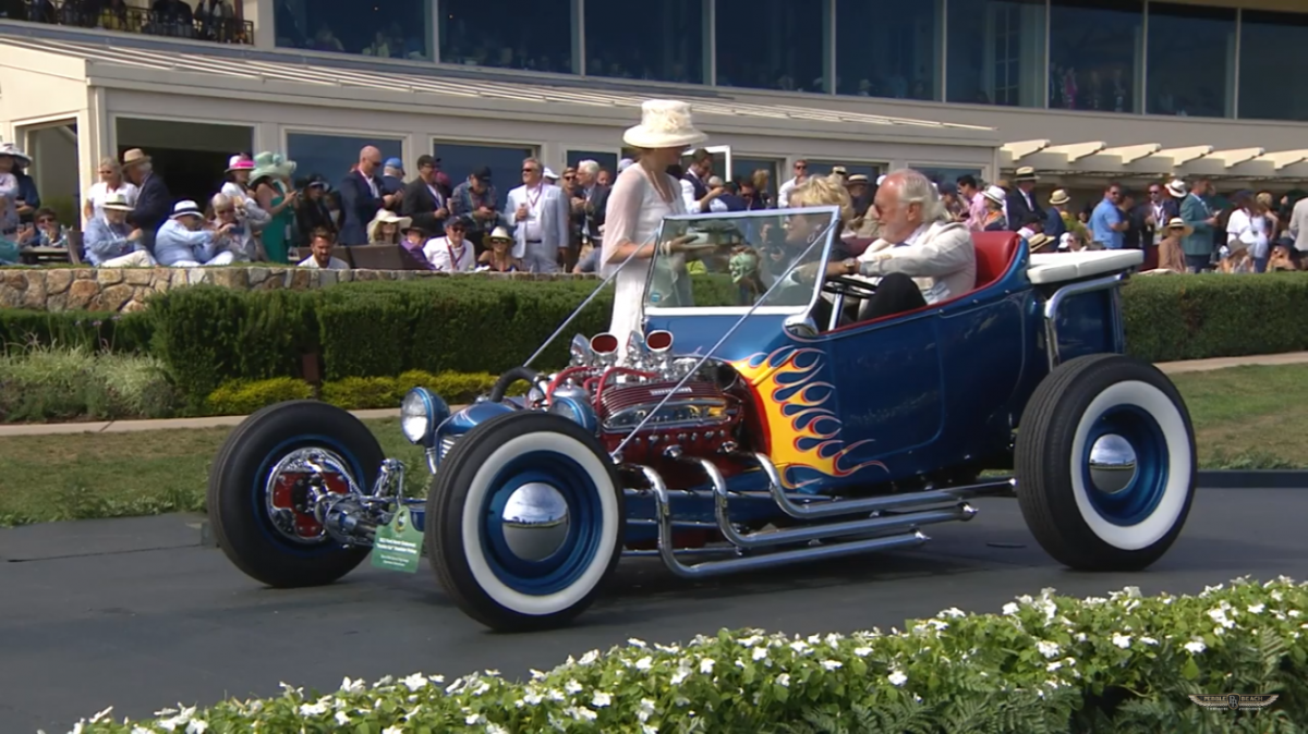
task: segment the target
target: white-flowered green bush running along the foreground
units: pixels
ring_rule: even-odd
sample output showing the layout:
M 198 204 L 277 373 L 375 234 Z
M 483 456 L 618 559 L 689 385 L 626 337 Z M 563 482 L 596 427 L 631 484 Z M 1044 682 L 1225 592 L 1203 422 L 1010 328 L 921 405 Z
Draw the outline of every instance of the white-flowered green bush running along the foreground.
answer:
M 150 722 L 102 713 L 82 731 L 1290 733 L 1308 721 L 1305 605 L 1308 588 L 1284 577 L 1184 597 L 1126 588 L 1074 599 L 1046 589 L 1003 614 L 951 609 L 888 635 L 629 640 L 526 683 L 493 671 L 449 684 L 421 673 L 371 687 L 347 678 L 327 695 L 286 686 L 273 699 L 173 709 Z M 1190 694 L 1279 699 L 1230 712 L 1203 709 Z

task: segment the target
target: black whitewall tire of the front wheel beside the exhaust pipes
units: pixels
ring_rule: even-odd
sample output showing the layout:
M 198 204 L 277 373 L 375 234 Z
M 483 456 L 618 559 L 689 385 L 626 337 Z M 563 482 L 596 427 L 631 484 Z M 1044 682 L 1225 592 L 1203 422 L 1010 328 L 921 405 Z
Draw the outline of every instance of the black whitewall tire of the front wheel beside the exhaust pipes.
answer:
M 508 461 L 534 452 L 559 453 L 585 471 L 586 491 L 598 492 L 600 522 L 583 571 L 568 586 L 539 596 L 501 580 L 484 550 L 484 508 L 500 488 L 492 482 Z M 510 413 L 470 431 L 442 461 L 428 508 L 428 542 L 438 549 L 433 560 L 442 582 L 454 586 L 449 590 L 464 611 L 494 628 L 535 628 L 579 614 L 621 555 L 625 503 L 617 473 L 594 436 L 557 415 Z

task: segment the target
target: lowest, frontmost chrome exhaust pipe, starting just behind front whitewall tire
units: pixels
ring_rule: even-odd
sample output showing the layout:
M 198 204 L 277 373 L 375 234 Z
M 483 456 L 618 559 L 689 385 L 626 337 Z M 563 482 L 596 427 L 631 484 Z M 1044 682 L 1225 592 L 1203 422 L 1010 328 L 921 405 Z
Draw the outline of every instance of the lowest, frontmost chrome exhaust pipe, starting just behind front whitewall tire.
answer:
M 659 556 L 662 556 L 663 564 L 667 566 L 668 571 L 671 571 L 676 576 L 680 576 L 681 579 L 705 579 L 712 576 L 725 576 L 729 573 L 740 573 L 760 568 L 773 568 L 777 566 L 789 566 L 793 563 L 800 563 L 807 560 L 821 560 L 828 558 L 858 555 L 874 550 L 918 546 L 929 539 L 925 534 L 922 534 L 921 530 L 914 530 L 912 533 L 905 533 L 901 535 L 886 535 L 880 538 L 850 541 L 829 546 L 795 549 L 795 550 L 778 551 L 764 555 L 731 558 L 725 560 L 706 560 L 702 563 L 696 563 L 695 566 L 685 566 L 676 558 L 676 549 L 672 547 L 672 528 L 671 528 L 672 509 L 671 505 L 668 504 L 667 485 L 663 482 L 663 478 L 659 477 L 658 471 L 655 471 L 649 466 L 637 465 L 634 466 L 634 469 L 638 469 L 641 471 L 645 479 L 650 483 L 651 491 L 654 492 L 654 500 L 659 524 L 658 525 Z

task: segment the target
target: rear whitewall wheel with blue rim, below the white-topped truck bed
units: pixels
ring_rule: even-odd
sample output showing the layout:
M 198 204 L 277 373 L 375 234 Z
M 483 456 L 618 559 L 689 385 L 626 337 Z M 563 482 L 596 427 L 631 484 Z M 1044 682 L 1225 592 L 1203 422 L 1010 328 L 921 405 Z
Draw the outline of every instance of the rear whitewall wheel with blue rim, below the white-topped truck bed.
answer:
M 1138 571 L 1176 542 L 1194 500 L 1194 428 L 1152 364 L 1080 357 L 1036 388 L 1018 427 L 1018 502 L 1059 563 Z

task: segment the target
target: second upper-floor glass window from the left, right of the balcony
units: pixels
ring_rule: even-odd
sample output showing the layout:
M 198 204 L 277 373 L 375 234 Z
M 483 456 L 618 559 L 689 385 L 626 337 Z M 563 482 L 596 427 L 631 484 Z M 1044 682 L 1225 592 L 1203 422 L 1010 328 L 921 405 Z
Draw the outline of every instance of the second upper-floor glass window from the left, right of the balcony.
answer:
M 441 0 L 447 64 L 573 73 L 573 0 Z

